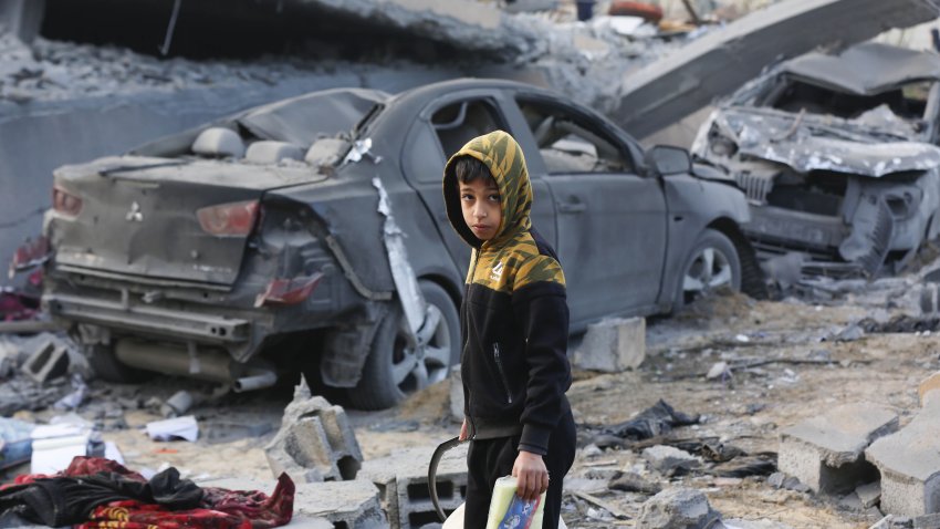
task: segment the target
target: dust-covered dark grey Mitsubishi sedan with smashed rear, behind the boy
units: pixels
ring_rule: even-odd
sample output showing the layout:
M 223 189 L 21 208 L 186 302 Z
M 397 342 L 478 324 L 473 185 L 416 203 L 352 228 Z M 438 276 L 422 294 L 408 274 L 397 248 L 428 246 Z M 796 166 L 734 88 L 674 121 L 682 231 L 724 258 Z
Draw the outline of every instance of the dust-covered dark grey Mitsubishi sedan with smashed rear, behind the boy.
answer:
M 441 175 L 493 129 L 524 151 L 574 332 L 763 284 L 743 193 L 697 176 L 687 151 L 644 152 L 549 91 L 459 80 L 315 92 L 59 168 L 44 307 L 106 378 L 246 391 L 303 370 L 354 406 L 390 406 L 459 362 L 470 253 Z

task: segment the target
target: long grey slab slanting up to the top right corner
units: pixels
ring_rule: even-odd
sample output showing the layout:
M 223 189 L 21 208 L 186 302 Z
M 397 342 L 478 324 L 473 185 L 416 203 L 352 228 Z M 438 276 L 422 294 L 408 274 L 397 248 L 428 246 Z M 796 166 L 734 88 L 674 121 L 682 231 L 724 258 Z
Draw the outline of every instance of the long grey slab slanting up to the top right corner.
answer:
M 781 56 L 846 46 L 933 20 L 925 0 L 788 0 L 755 11 L 628 74 L 610 116 L 645 137 L 729 94 Z

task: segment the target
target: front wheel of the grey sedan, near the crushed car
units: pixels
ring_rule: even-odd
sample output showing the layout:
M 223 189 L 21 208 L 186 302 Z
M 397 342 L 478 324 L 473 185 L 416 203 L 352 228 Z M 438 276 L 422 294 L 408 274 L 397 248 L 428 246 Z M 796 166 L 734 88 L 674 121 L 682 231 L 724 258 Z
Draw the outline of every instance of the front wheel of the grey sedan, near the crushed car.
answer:
M 741 290 L 741 258 L 724 234 L 707 229 L 682 266 L 673 311 L 719 288 Z

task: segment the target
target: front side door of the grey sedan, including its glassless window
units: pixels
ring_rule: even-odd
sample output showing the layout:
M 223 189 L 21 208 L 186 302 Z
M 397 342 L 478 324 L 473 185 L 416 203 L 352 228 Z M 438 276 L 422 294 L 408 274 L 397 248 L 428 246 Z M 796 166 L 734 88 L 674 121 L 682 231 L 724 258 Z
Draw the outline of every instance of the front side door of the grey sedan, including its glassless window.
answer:
M 520 93 L 557 212 L 572 321 L 655 311 L 667 247 L 660 183 L 639 176 L 613 125 L 560 100 Z M 534 164 L 533 164 L 534 165 Z

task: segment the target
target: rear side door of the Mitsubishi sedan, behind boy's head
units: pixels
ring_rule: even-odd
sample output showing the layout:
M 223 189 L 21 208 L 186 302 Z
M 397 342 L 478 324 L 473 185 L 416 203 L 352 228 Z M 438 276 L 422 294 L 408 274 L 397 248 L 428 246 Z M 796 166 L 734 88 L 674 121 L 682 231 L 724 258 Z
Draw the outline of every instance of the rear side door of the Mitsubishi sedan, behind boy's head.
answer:
M 428 105 L 415 121 L 405 143 L 404 173 L 435 220 L 455 263 L 467 270 L 470 247 L 457 236 L 447 218 L 441 178 L 447 159 L 476 136 L 497 129 L 509 131 L 498 91 L 449 94 Z M 536 196 L 549 195 L 544 183 L 533 181 Z M 532 221 L 554 243 L 554 210 L 550 199 L 535 200 Z

